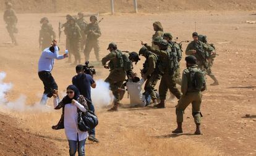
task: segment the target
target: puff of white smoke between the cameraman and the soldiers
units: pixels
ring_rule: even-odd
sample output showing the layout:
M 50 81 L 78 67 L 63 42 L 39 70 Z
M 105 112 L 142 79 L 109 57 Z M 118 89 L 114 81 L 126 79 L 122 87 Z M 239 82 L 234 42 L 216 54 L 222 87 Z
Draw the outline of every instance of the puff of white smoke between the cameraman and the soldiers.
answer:
M 109 91 L 109 83 L 96 80 L 96 88 L 92 89 L 92 102 L 95 107 L 106 107 L 113 101 L 113 94 Z

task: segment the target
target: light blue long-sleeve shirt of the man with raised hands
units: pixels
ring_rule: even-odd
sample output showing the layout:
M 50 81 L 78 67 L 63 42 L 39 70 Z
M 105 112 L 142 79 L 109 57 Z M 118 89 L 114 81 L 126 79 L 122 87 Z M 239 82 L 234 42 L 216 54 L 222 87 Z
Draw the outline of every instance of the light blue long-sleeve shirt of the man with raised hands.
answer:
M 51 52 L 49 47 L 43 50 L 38 61 L 38 72 L 51 72 L 51 70 L 53 70 L 54 59 L 64 59 L 64 55 L 59 55 L 58 46 L 54 46 L 54 52 Z

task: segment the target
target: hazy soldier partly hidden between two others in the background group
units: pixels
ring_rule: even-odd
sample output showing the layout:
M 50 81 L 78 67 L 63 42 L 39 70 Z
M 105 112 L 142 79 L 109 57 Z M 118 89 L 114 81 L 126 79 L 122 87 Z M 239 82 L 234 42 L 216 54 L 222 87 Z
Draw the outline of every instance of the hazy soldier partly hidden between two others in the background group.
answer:
M 83 51 L 83 49 L 85 48 L 85 39 L 86 39 L 86 35 L 85 35 L 85 28 L 87 27 L 88 23 L 85 21 L 85 19 L 83 18 L 84 15 L 82 12 L 79 12 L 78 14 L 78 19 L 77 19 L 77 25 L 79 25 L 79 28 L 81 30 L 81 35 L 82 35 L 82 39 L 80 42 L 80 47 Z

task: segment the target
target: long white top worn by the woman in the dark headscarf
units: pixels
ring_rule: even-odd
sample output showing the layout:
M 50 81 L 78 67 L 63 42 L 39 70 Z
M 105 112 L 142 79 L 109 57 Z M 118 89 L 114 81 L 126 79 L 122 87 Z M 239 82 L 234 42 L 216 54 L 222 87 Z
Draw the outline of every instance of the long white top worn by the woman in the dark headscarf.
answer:
M 54 98 L 54 108 L 58 105 L 58 99 Z M 66 104 L 64 107 L 64 129 L 68 140 L 77 141 L 77 134 L 79 141 L 88 137 L 88 132 L 80 131 L 77 127 L 77 108 L 82 112 L 86 112 L 85 107 L 75 102 L 75 104 Z

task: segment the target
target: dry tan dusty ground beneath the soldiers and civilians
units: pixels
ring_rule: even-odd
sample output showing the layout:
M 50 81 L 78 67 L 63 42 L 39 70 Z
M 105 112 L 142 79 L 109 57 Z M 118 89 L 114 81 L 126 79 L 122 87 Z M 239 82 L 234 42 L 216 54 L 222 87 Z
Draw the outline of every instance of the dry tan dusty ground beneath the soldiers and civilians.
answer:
M 103 36 L 100 38 L 100 55 L 108 54 L 106 47 L 115 41 L 121 50 L 139 51 L 140 40 L 150 43 L 153 30 L 151 24 L 156 20 L 163 23 L 164 31 L 178 36 L 179 41 L 192 39 L 194 23 L 198 33 L 208 36 L 215 43 L 218 57 L 213 72 L 220 86 L 208 86 L 203 93 L 202 136 L 194 136 L 194 122 L 191 108 L 184 115 L 184 134 L 172 135 L 176 128 L 176 101 L 168 102 L 166 109 L 121 109 L 108 113 L 98 109 L 100 124 L 96 129 L 100 144 L 88 142 L 88 155 L 256 155 L 256 120 L 244 118 L 245 114 L 256 115 L 256 25 L 249 25 L 245 20 L 256 20 L 253 12 L 182 12 L 170 14 L 117 14 L 105 16 L 100 23 Z M 39 20 L 49 17 L 58 30 L 58 21 L 64 22 L 64 14 L 19 14 L 19 46 L 5 44 L 9 36 L 4 23 L 0 22 L 0 67 L 7 73 L 6 82 L 12 82 L 14 89 L 8 94 L 14 100 L 20 94 L 27 96 L 27 104 L 39 101 L 38 94 L 43 92 L 43 85 L 37 75 Z M 62 36 L 64 41 L 64 36 Z M 184 48 L 186 48 L 184 44 Z M 63 52 L 64 45 L 60 45 Z M 92 52 L 92 59 L 94 59 Z M 136 67 L 139 72 L 142 62 Z M 182 69 L 184 60 L 182 60 Z M 108 70 L 97 68 L 100 75 L 95 79 L 105 78 Z M 65 60 L 56 61 L 53 71 L 59 89 L 63 90 L 71 83 L 75 75 L 73 66 Z M 208 78 L 208 84 L 212 81 Z M 129 99 L 124 99 L 129 104 Z M 51 100 L 49 105 L 52 105 Z M 7 112 L 20 120 L 20 127 L 44 136 L 58 146 L 61 155 L 67 155 L 68 144 L 64 131 L 53 131 L 51 125 L 59 119 L 60 111 L 52 112 Z M 5 142 L 4 142 L 5 143 Z M 48 155 L 54 155 L 48 153 Z M 7 154 L 7 150 L 1 151 Z M 18 153 L 17 153 L 18 154 Z M 46 155 L 46 153 L 45 153 Z

